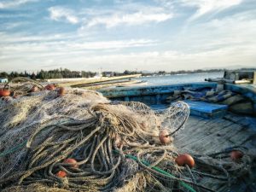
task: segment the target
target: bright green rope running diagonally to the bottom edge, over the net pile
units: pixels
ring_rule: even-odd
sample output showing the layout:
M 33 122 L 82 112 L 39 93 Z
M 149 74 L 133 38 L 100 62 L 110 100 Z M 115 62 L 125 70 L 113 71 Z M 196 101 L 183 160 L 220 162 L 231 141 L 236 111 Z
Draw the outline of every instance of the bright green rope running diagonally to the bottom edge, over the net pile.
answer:
M 119 152 L 116 151 L 116 150 L 114 150 L 113 152 L 119 154 Z M 135 156 L 133 156 L 133 155 L 131 155 L 131 154 L 125 154 L 125 157 L 127 157 L 127 158 L 129 158 L 129 159 L 131 159 L 131 160 L 136 160 L 136 161 L 138 161 L 138 160 L 137 160 L 137 157 L 135 157 Z M 141 162 L 142 162 L 145 166 L 150 166 L 150 163 L 148 163 L 148 162 L 145 161 L 145 160 L 142 160 Z M 166 175 L 167 177 L 177 178 L 177 177 L 173 176 L 171 173 L 166 172 L 166 171 L 160 169 L 160 168 L 157 167 L 157 166 L 152 166 L 151 168 L 154 169 L 154 171 L 156 171 L 156 172 L 160 172 L 160 173 Z M 180 183 L 184 188 L 188 189 L 189 191 L 191 191 L 191 192 L 196 192 L 195 189 L 193 189 L 189 184 L 184 183 L 183 181 L 179 181 L 179 183 Z

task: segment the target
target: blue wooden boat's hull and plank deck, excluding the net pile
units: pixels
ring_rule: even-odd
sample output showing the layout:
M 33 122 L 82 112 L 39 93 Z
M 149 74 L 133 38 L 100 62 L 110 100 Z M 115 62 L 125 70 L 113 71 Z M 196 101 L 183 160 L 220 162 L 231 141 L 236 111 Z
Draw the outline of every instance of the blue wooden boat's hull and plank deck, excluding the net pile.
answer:
M 252 170 L 251 173 L 242 174 L 241 170 L 235 170 L 238 177 L 230 185 L 216 182 L 218 175 L 204 177 L 202 174 L 201 180 L 197 182 L 212 191 L 253 192 L 256 191 L 255 79 L 255 72 L 226 72 L 224 78 L 207 79 L 207 82 L 202 83 L 119 87 L 99 91 L 112 101 L 143 102 L 156 111 L 165 110 L 172 102 L 186 102 L 190 108 L 189 119 L 184 129 L 177 131 L 173 142 L 179 151 L 192 151 L 195 156 L 215 155 L 221 161 L 230 158 L 232 151 L 245 149 L 251 158 L 251 161 L 247 161 L 247 168 Z M 213 96 L 206 96 L 211 91 Z M 224 104 L 226 95 L 219 93 L 230 94 L 226 98 L 237 99 L 240 96 L 242 99 L 237 100 L 237 108 L 234 108 L 236 105 L 230 102 L 232 99 L 229 100 L 230 103 Z M 247 103 L 250 103 L 249 107 Z M 200 160 L 197 161 L 196 163 L 201 163 Z M 245 161 L 243 163 L 246 164 Z M 214 172 L 212 175 L 214 176 Z

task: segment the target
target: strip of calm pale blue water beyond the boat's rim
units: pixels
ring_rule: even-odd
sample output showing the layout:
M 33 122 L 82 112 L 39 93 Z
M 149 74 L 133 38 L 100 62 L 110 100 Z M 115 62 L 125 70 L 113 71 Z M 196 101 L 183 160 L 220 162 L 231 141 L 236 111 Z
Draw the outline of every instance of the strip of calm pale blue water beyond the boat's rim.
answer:
M 148 85 L 183 84 L 191 82 L 204 82 L 205 79 L 208 78 L 222 78 L 223 76 L 224 72 L 214 72 L 142 77 L 138 78 L 138 80 L 146 80 Z

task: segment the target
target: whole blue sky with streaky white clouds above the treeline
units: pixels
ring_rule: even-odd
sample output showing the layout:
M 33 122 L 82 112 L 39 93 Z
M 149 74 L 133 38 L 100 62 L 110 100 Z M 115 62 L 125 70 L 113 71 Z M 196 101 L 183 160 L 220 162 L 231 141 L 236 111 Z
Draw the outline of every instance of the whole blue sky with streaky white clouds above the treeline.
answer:
M 0 0 L 0 71 L 256 67 L 255 0 Z

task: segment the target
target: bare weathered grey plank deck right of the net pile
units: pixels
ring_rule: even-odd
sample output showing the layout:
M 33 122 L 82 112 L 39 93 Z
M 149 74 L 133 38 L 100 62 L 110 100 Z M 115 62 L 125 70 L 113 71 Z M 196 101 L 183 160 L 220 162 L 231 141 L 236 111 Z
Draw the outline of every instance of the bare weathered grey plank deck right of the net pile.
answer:
M 247 125 L 244 118 L 234 115 L 228 115 L 225 119 L 198 119 L 192 116 L 189 117 L 185 129 L 177 133 L 174 143 L 177 148 L 186 147 L 200 151 L 239 145 L 253 135 Z M 201 148 L 201 143 L 204 143 L 204 148 Z

